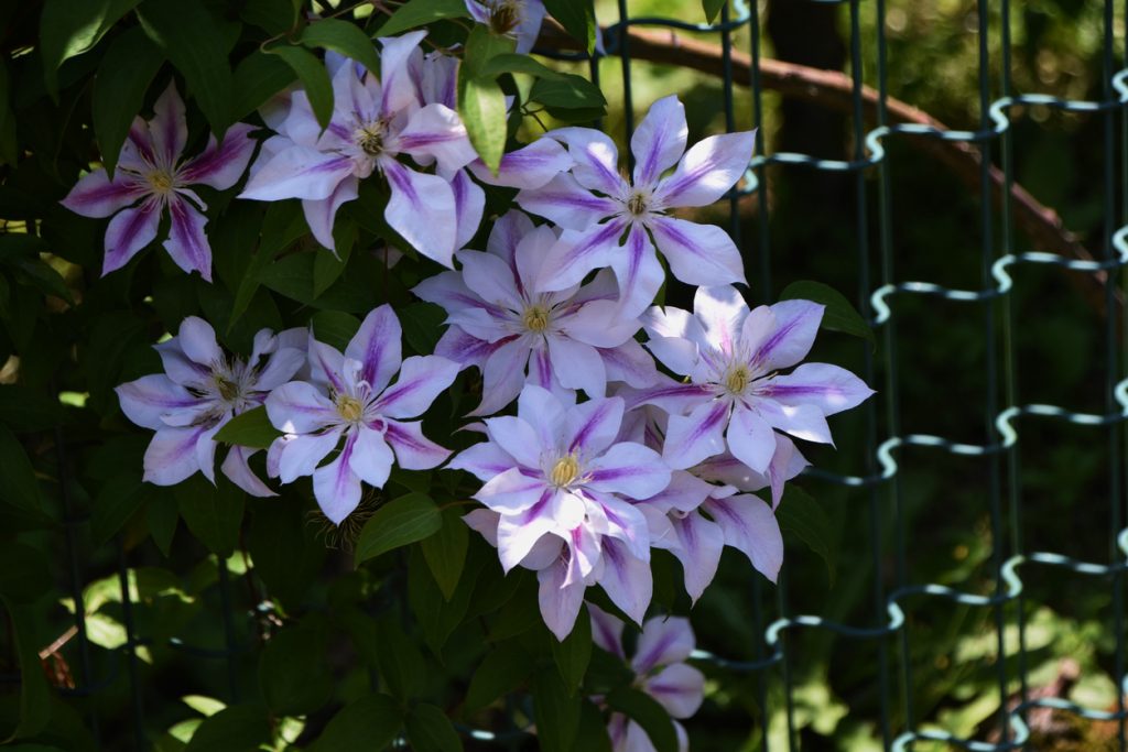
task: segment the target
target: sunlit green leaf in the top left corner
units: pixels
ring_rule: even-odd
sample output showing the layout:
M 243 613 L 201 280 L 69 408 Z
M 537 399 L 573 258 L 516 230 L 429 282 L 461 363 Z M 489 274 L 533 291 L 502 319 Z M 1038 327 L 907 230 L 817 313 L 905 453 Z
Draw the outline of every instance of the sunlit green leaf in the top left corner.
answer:
M 139 0 L 46 0 L 39 18 L 39 50 L 47 91 L 59 96 L 59 67 L 92 50 Z

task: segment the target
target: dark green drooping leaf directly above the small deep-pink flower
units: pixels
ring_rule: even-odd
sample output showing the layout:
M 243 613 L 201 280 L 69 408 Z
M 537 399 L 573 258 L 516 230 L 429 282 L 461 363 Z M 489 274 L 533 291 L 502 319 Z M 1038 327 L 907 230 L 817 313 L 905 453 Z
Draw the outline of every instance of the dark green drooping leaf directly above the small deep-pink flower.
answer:
M 111 177 L 133 117 L 141 112 L 144 94 L 162 62 L 165 53 L 160 47 L 143 30 L 133 27 L 109 43 L 98 65 L 90 114 L 102 163 Z

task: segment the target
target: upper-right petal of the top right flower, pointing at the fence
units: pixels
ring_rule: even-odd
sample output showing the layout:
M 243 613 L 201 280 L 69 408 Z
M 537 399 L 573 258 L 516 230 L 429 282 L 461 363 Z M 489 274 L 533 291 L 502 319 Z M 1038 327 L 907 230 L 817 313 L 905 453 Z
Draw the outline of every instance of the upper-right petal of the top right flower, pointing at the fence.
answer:
M 737 184 L 752 160 L 756 132 L 712 135 L 690 147 L 654 192 L 662 206 L 707 206 Z

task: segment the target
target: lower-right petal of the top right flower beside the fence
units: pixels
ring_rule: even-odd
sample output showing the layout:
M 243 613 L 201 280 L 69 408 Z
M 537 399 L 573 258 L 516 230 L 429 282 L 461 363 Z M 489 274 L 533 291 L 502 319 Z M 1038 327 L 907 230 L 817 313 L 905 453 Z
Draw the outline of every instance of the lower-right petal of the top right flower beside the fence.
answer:
M 715 224 L 660 216 L 651 221 L 650 229 L 670 272 L 686 284 L 744 282 L 744 263 L 737 244 Z

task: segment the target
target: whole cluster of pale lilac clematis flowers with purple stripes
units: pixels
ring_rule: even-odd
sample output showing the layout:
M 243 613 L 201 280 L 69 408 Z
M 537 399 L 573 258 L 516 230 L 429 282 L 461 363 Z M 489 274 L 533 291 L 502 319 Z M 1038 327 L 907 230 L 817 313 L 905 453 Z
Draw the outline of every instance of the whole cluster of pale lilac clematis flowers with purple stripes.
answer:
M 519 39 L 544 14 L 532 0 L 467 6 Z M 364 318 L 344 352 L 305 330 L 264 330 L 246 361 L 188 318 L 158 345 L 166 374 L 118 388 L 125 415 L 157 432 L 146 478 L 169 485 L 201 471 L 213 479 L 217 432 L 259 406 L 281 433 L 267 475 L 282 484 L 311 476 L 334 523 L 356 508 L 363 484 L 381 488 L 394 465 L 422 470 L 449 460 L 450 470 L 481 481 L 469 490 L 483 507 L 466 522 L 496 546 L 505 570 L 537 573 L 541 614 L 561 639 L 591 586 L 642 623 L 655 548 L 681 561 L 695 600 L 725 546 L 774 580 L 783 558 L 775 507 L 807 465 L 792 440 L 830 443 L 827 416 L 872 391 L 840 368 L 802 363 L 822 306 L 750 310 L 733 286 L 744 281 L 733 241 L 673 214 L 733 188 L 755 133 L 690 147 L 685 109 L 667 97 L 631 140 L 629 177 L 611 140 L 584 127 L 549 131 L 506 153 L 494 172 L 457 114 L 457 61 L 424 54 L 423 37 L 380 39 L 380 71 L 329 54 L 334 109 L 324 129 L 301 89 L 264 108 L 272 133 L 239 195 L 300 198 L 311 235 L 334 249 L 341 206 L 365 180 L 386 186 L 386 224 L 447 267 L 414 287 L 447 312 L 435 352 L 403 359 L 388 304 Z M 203 203 L 187 186 L 232 187 L 254 148 L 250 130 L 235 126 L 180 163 L 184 106 L 169 88 L 156 117 L 134 124 L 117 177 L 91 172 L 65 202 L 92 216 L 122 210 L 107 230 L 105 271 L 148 244 L 158 209 L 167 209 L 166 247 L 209 278 L 205 220 L 195 209 Z M 515 188 L 515 198 L 496 193 L 509 204 L 484 249 L 467 248 L 493 186 Z M 653 306 L 666 281 L 659 254 L 673 277 L 699 285 L 693 311 Z M 482 375 L 472 415 L 483 421 L 466 427 L 485 440 L 451 458 L 418 418 L 464 370 Z M 514 402 L 515 415 L 501 414 Z M 223 471 L 248 493 L 273 493 L 247 454 L 232 449 Z M 763 489 L 770 501 L 756 495 Z M 640 673 L 663 662 L 647 661 Z

